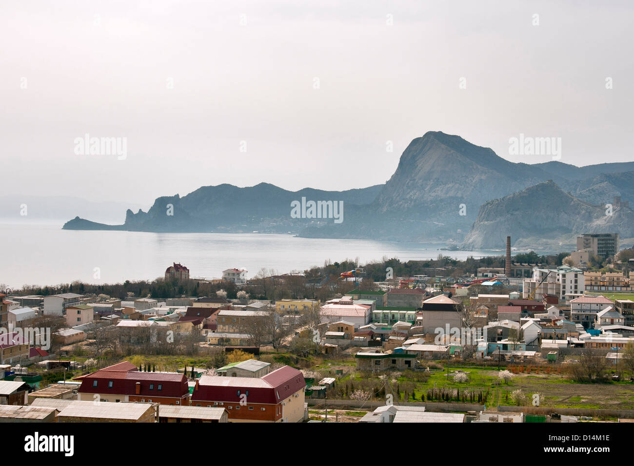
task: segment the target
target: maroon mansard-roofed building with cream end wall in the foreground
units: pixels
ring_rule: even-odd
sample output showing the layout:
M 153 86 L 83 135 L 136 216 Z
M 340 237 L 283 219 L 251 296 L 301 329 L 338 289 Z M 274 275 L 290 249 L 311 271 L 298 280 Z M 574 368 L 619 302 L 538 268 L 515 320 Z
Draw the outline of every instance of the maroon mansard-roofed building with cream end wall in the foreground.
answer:
M 263 377 L 204 375 L 191 405 L 225 408 L 230 422 L 299 422 L 304 418 L 304 375 L 284 366 Z

